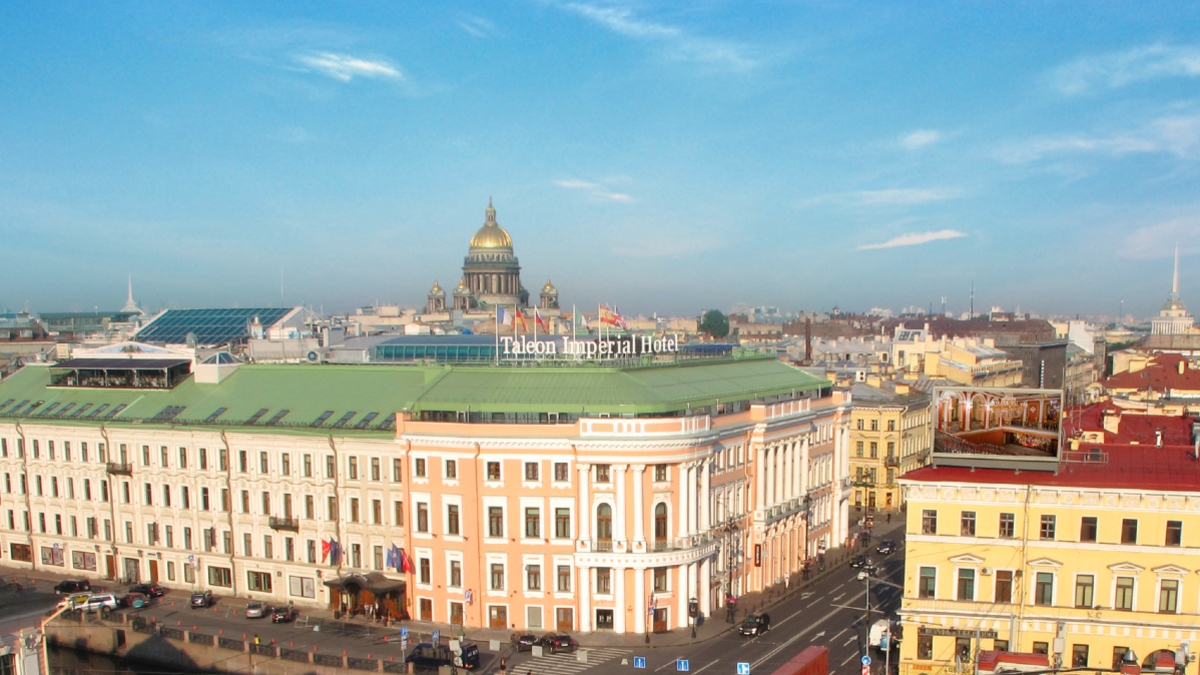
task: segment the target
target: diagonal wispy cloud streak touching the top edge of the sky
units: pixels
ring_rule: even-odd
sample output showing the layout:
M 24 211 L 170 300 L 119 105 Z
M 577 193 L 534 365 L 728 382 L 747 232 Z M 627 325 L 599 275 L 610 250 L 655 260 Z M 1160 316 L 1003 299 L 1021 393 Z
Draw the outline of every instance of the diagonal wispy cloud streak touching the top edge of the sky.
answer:
M 700 62 L 734 72 L 749 71 L 761 64 L 745 44 L 692 35 L 679 26 L 641 18 L 630 7 L 588 2 L 566 2 L 560 6 L 625 37 L 658 44 L 664 55 L 672 60 Z

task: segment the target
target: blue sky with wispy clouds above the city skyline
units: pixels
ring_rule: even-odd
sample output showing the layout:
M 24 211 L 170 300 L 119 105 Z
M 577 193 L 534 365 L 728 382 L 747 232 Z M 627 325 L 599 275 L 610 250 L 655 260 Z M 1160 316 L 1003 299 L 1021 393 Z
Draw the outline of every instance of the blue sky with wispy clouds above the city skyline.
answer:
M 0 4 L 0 305 L 1200 310 L 1190 2 Z

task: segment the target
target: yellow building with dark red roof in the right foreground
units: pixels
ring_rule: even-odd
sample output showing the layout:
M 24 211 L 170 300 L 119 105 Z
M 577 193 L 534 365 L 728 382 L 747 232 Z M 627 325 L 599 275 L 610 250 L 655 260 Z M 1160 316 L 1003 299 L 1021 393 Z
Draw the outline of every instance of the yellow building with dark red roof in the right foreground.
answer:
M 1127 650 L 1146 662 L 1200 638 L 1192 448 L 1081 448 L 1057 460 L 935 455 L 900 480 L 901 675 L 967 673 L 979 650 L 1108 669 Z

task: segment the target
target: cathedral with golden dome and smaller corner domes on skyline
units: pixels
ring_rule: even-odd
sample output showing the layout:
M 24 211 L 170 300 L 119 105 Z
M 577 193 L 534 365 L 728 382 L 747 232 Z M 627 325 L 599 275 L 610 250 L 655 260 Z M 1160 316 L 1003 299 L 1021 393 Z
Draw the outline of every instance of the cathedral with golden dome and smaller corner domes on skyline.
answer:
M 496 222 L 496 207 L 487 201 L 484 227 L 470 238 L 470 249 L 462 263 L 462 279 L 446 305 L 446 292 L 438 282 L 430 289 L 430 312 L 491 311 L 496 306 L 523 310 L 529 307 L 529 291 L 521 285 L 521 263 L 512 252 L 512 237 Z M 548 280 L 541 289 L 538 306 L 558 310 L 558 289 Z

